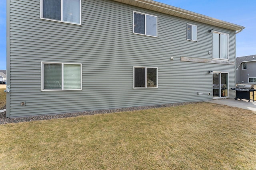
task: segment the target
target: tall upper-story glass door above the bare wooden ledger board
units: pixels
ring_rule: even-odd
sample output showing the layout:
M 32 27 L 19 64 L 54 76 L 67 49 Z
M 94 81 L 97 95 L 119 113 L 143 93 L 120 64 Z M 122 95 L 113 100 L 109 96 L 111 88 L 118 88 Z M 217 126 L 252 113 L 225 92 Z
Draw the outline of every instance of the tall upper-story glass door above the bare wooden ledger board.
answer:
M 228 59 L 228 34 L 212 33 L 212 57 Z

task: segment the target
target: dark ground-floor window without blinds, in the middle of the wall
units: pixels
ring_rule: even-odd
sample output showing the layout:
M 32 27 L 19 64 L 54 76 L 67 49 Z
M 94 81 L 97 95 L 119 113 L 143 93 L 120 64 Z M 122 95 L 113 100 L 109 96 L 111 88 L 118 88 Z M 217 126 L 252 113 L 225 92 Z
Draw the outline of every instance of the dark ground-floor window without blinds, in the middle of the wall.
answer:
M 157 88 L 157 68 L 134 66 L 134 88 Z

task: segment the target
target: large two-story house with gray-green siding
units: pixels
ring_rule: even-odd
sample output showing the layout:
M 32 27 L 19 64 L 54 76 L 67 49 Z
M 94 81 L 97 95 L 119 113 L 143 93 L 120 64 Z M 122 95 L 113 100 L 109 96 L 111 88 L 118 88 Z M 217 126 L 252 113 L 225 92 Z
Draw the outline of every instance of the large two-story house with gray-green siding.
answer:
M 235 97 L 243 26 L 153 0 L 7 0 L 7 18 L 7 117 Z

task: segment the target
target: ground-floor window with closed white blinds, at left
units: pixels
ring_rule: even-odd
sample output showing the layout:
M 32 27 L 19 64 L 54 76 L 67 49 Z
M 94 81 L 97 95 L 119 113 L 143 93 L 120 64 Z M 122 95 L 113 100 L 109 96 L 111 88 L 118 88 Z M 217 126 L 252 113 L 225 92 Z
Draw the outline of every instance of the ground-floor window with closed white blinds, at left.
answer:
M 42 90 L 82 90 L 82 64 L 42 62 Z

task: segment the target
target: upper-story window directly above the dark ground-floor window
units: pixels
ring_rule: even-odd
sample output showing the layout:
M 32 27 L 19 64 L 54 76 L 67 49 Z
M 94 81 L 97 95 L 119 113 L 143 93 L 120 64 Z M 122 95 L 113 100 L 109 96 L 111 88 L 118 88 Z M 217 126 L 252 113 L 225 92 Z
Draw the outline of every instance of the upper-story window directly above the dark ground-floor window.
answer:
M 133 12 L 133 33 L 157 37 L 157 17 Z

